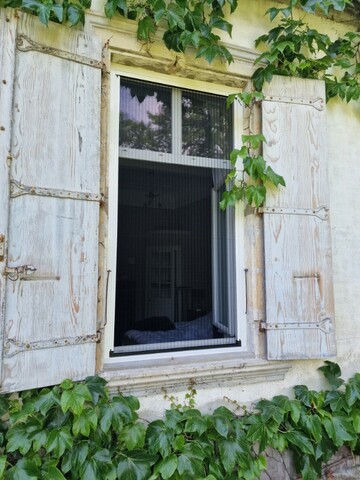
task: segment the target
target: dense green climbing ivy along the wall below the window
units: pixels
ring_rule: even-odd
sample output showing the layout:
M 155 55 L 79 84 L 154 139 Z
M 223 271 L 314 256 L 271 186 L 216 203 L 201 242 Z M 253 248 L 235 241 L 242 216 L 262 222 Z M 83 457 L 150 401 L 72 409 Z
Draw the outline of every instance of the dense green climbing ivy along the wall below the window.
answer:
M 99 377 L 0 396 L 0 478 L 256 480 L 271 447 L 291 451 L 303 480 L 316 480 L 340 447 L 360 453 L 360 374 L 345 382 L 335 363 L 320 370 L 329 390 L 297 385 L 294 398 L 251 411 L 228 399 L 231 408 L 203 414 L 191 383 L 183 403 L 165 393 L 170 408 L 150 423 L 137 398 L 111 398 Z

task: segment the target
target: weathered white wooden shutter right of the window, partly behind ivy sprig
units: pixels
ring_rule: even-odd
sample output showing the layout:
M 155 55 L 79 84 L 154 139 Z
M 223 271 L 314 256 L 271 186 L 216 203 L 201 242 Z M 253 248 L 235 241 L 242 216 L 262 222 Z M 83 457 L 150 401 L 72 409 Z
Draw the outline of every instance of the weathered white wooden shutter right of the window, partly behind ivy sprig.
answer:
M 336 353 L 324 90 L 288 77 L 264 89 L 263 153 L 286 181 L 262 209 L 269 359 Z

